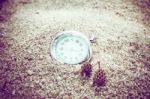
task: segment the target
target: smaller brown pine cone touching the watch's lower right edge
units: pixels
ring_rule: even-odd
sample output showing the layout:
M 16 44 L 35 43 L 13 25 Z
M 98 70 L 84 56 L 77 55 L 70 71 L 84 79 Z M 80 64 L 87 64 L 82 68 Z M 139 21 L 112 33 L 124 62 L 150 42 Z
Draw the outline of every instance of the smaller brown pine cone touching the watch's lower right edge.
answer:
M 83 78 L 90 78 L 91 77 L 92 65 L 89 62 L 83 64 L 83 66 L 81 67 L 80 75 Z

